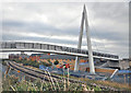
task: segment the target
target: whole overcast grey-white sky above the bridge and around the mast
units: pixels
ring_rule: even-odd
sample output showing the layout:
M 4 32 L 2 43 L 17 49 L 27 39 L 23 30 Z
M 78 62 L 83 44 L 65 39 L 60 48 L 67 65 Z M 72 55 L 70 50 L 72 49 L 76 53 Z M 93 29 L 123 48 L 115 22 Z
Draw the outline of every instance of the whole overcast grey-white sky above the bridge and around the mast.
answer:
M 2 40 L 78 47 L 83 2 L 7 2 L 2 4 Z M 129 56 L 129 3 L 86 2 L 95 51 Z M 87 48 L 85 31 L 83 49 Z

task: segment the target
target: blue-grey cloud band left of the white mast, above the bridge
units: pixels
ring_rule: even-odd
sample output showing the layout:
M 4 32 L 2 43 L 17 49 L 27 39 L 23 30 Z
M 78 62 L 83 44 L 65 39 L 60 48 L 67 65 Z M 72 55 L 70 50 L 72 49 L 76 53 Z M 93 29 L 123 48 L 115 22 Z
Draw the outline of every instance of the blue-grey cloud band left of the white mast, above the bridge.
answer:
M 25 33 L 37 33 L 37 34 L 51 34 L 51 35 L 78 35 L 79 30 L 59 30 L 52 25 L 47 25 L 39 22 L 25 23 L 20 21 L 2 21 L 3 31 L 9 32 L 9 30 L 21 31 Z M 13 33 L 13 32 L 12 32 Z M 14 33 L 15 34 L 15 33 Z

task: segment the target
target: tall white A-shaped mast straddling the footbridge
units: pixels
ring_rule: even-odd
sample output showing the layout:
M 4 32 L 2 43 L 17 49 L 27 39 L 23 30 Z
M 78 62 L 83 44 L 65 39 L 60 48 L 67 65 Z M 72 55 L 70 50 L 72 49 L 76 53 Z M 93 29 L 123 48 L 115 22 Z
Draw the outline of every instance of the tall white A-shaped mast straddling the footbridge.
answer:
M 88 59 L 90 59 L 90 73 L 95 74 L 94 69 L 94 59 L 93 59 L 93 51 L 92 51 L 92 44 L 88 31 L 88 22 L 87 22 L 87 13 L 86 8 L 84 5 L 83 13 L 82 13 L 82 22 L 81 22 L 81 30 L 80 30 L 80 37 L 79 37 L 79 45 L 78 48 L 81 49 L 82 46 L 82 36 L 83 36 L 83 28 L 84 28 L 84 21 L 85 21 L 85 30 L 86 30 L 86 40 L 87 40 L 87 49 L 88 49 Z M 75 66 L 74 71 L 79 70 L 79 58 L 75 58 Z

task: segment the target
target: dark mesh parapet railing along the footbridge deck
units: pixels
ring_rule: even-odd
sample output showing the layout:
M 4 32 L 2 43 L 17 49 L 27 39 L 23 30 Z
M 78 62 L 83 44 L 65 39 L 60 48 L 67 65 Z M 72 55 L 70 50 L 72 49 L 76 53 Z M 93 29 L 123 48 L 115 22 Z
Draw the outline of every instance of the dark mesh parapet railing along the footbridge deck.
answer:
M 55 51 L 64 51 L 80 55 L 88 55 L 87 50 L 71 48 L 66 46 L 57 46 L 50 44 L 39 44 L 39 43 L 23 43 L 23 42 L 1 42 L 1 49 L 46 49 L 46 50 L 55 50 Z M 103 54 L 93 51 L 93 56 L 105 57 L 105 58 L 114 58 L 119 59 L 116 55 Z

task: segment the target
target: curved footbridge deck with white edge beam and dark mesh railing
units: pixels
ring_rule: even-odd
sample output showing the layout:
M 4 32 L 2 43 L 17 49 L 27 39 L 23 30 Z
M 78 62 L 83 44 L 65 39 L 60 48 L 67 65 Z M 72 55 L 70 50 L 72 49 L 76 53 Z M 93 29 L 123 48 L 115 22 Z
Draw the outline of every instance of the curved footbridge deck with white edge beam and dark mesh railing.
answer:
M 66 46 L 57 46 L 40 43 L 24 43 L 24 42 L 1 42 L 0 51 L 33 51 L 33 53 L 50 53 L 60 55 L 70 55 L 76 57 L 88 57 L 88 50 L 71 48 Z M 119 57 L 111 54 L 103 54 L 93 51 L 93 58 L 118 61 Z

